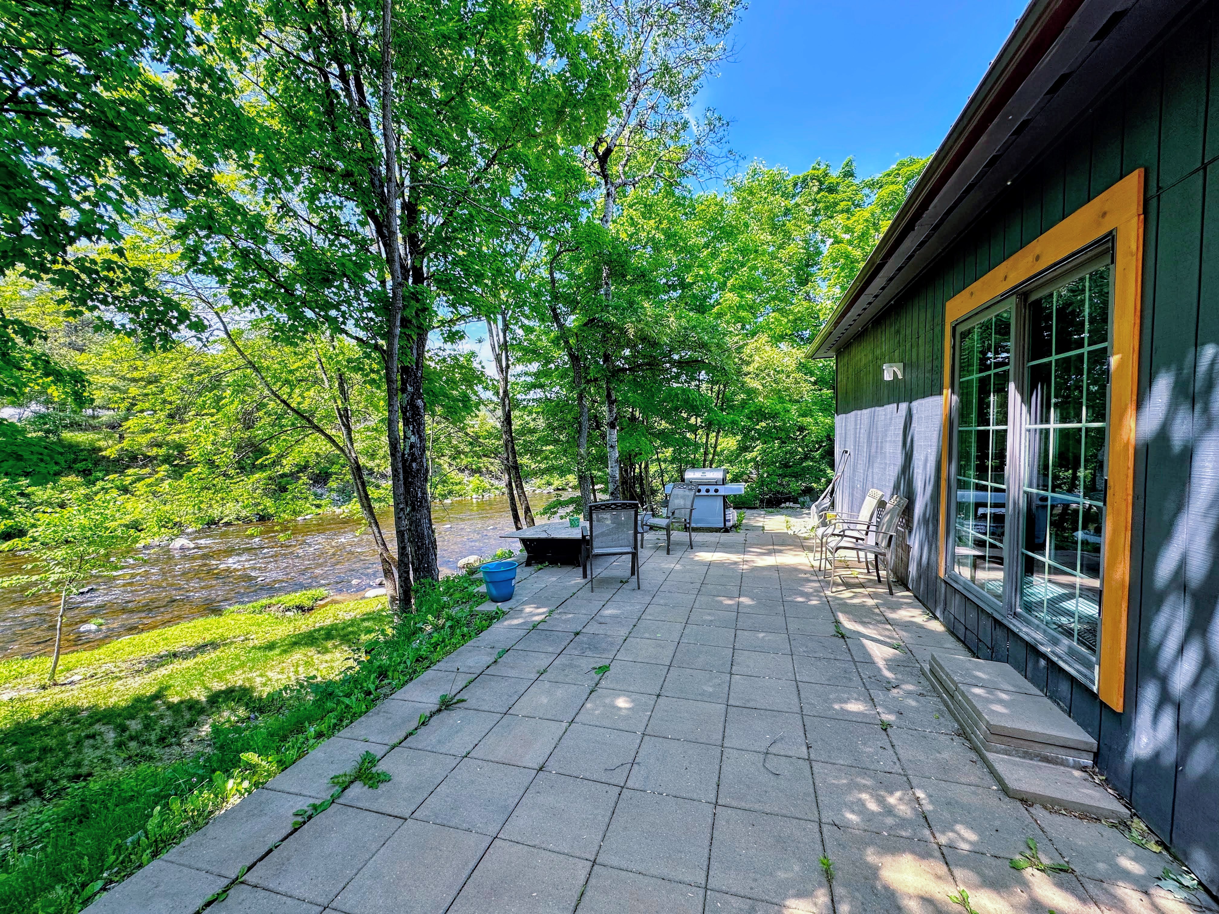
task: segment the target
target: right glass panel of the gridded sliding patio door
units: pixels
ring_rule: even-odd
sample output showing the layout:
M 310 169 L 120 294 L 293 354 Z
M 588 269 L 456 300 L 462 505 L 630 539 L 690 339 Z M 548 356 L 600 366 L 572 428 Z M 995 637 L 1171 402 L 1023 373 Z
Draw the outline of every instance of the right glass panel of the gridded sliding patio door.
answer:
M 1028 303 L 1019 612 L 1095 657 L 1101 619 L 1109 267 Z

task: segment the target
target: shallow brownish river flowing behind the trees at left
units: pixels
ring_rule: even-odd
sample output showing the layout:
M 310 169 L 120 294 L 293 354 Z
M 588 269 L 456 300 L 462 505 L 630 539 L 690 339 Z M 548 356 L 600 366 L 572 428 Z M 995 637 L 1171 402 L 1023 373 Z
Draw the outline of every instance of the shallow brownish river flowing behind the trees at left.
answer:
M 489 556 L 514 540 L 507 498 L 457 500 L 433 505 L 440 568 L 456 572 L 464 556 Z M 382 518 L 393 537 L 393 517 Z M 290 533 L 288 539 L 280 536 Z M 141 550 L 139 559 L 122 570 L 98 578 L 89 593 L 69 598 L 63 622 L 63 650 L 96 647 L 138 631 L 157 629 L 202 615 L 216 615 L 239 603 L 325 587 L 350 593 L 377 586 L 380 562 L 362 522 L 336 514 L 317 514 L 277 524 L 234 524 L 187 534 L 194 548 L 168 546 Z M 0 553 L 0 578 L 20 574 L 22 557 Z M 49 654 L 55 643 L 54 596 L 27 597 L 20 590 L 0 589 L 0 658 Z M 77 629 L 91 619 L 105 619 L 101 631 Z

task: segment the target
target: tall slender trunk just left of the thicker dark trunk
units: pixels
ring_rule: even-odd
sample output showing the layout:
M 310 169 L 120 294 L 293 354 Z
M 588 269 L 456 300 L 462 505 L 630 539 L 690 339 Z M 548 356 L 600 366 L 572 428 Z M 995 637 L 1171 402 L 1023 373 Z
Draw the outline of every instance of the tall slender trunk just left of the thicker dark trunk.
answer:
M 394 0 L 382 10 L 382 141 L 385 146 L 385 258 L 389 269 L 389 313 L 385 316 L 385 406 L 390 485 L 394 494 L 394 540 L 397 546 L 399 607 L 412 602 L 411 545 L 407 539 L 406 481 L 402 478 L 401 391 L 399 390 L 402 338 L 402 247 L 397 230 L 397 135 L 394 129 Z M 388 579 L 386 579 L 388 580 Z M 386 591 L 389 589 L 386 587 Z M 390 607 L 394 608 L 393 606 Z

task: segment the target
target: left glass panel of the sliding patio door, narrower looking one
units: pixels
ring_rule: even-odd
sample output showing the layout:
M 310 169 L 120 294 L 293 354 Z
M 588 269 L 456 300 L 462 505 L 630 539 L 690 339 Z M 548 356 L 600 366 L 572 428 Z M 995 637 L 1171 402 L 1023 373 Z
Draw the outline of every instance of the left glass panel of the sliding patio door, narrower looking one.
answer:
M 957 515 L 952 563 L 962 578 L 1003 598 L 1007 528 L 1007 389 L 1012 311 L 957 338 Z

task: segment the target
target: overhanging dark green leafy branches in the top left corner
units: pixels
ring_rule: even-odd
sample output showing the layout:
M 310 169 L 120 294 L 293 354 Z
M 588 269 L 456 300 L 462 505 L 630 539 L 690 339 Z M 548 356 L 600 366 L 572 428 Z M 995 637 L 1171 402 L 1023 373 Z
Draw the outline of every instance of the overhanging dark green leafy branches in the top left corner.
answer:
M 167 341 L 190 314 L 128 258 L 124 224 L 210 182 L 239 119 L 195 5 L 168 0 L 0 0 L 0 275 L 49 280 L 78 312 L 110 311 Z M 223 132 L 240 136 L 239 130 Z M 0 308 L 0 396 L 79 378 L 45 338 Z

